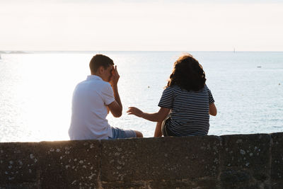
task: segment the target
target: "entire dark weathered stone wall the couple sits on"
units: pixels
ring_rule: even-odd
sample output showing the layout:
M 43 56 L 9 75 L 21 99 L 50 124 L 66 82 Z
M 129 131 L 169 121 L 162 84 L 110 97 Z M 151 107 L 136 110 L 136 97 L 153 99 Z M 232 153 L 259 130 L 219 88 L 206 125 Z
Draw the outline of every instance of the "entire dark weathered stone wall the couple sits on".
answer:
M 0 188 L 283 188 L 283 133 L 0 143 Z

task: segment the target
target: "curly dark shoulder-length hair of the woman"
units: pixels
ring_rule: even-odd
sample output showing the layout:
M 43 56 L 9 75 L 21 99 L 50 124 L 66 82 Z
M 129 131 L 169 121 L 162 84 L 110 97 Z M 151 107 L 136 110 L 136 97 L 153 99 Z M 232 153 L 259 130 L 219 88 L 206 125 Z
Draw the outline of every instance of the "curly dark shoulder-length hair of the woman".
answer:
M 202 65 L 192 55 L 187 54 L 174 63 L 166 87 L 177 85 L 187 91 L 199 91 L 204 87 L 206 80 Z

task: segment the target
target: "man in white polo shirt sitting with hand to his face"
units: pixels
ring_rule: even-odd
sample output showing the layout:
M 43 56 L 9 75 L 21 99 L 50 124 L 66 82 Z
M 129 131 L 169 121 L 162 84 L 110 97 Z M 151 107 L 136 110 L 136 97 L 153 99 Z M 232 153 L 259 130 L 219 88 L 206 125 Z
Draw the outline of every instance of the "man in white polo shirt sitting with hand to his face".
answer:
M 74 139 L 117 139 L 143 137 L 141 132 L 111 127 L 109 111 L 115 118 L 122 115 L 117 83 L 120 75 L 114 62 L 96 55 L 89 63 L 91 75 L 79 83 L 73 94 L 69 137 Z

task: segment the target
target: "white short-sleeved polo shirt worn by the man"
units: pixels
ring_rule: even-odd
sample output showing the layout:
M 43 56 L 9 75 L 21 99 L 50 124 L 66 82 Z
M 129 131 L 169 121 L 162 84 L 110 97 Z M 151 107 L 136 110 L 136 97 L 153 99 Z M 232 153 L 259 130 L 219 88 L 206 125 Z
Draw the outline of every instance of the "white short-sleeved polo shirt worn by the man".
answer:
M 107 106 L 115 101 L 112 87 L 100 76 L 90 75 L 73 93 L 69 137 L 74 139 L 108 139 L 112 130 L 106 120 Z

